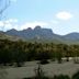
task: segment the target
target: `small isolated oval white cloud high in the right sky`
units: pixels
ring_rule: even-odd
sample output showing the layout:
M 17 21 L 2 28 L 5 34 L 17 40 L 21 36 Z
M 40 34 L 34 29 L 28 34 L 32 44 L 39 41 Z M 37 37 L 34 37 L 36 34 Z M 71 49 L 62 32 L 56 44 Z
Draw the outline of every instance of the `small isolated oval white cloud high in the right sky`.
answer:
M 74 15 L 70 13 L 70 12 L 66 12 L 66 11 L 61 11 L 61 12 L 58 12 L 56 14 L 56 18 L 59 19 L 59 20 L 69 20 L 71 19 Z

